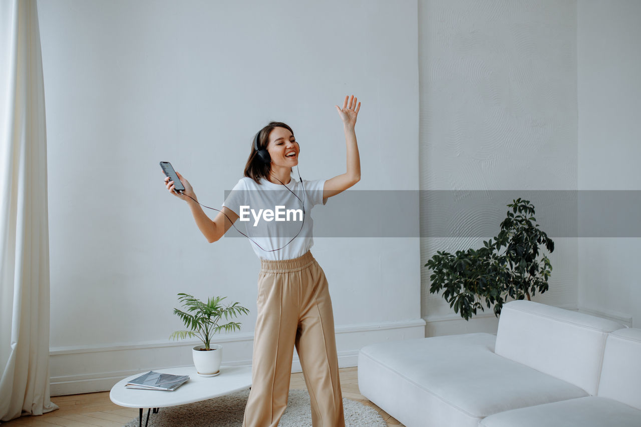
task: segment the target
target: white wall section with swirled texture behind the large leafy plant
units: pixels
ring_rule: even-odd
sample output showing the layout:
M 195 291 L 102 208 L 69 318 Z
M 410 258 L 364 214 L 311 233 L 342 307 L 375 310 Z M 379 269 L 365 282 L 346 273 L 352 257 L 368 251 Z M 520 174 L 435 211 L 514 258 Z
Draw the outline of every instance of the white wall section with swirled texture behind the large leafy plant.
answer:
M 422 190 L 457 190 L 462 200 L 485 190 L 478 212 L 506 204 L 492 190 L 516 190 L 512 198 L 520 190 L 576 190 L 574 0 L 421 0 L 419 69 Z M 422 230 L 431 227 L 426 211 L 422 205 Z M 453 228 L 484 227 L 489 217 L 460 221 Z M 576 308 L 576 239 L 551 237 L 550 290 L 535 299 Z M 472 246 L 481 239 L 422 239 L 421 265 L 437 250 Z M 465 322 L 429 294 L 427 267 L 421 278 L 426 335 L 495 332 L 491 312 Z

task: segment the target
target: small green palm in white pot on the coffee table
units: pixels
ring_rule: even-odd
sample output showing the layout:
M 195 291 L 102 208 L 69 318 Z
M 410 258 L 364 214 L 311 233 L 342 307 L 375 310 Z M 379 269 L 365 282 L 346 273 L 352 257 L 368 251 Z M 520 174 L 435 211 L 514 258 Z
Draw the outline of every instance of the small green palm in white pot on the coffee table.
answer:
M 221 330 L 226 332 L 240 330 L 238 322 L 226 324 L 219 324 L 219 322 L 222 316 L 228 319 L 240 314 L 249 314 L 249 310 L 238 303 L 223 307 L 221 301 L 226 297 L 209 298 L 207 303 L 203 303 L 189 294 L 178 294 L 178 296 L 178 300 L 183 303 L 187 312 L 174 308 L 174 314 L 180 317 L 189 330 L 175 331 L 169 336 L 169 339 L 185 339 L 187 337 L 200 339 L 203 344 L 192 349 L 196 372 L 200 376 L 215 376 L 219 374 L 221 367 L 222 346 L 221 344 L 211 344 L 212 335 Z M 195 313 L 190 314 L 192 312 Z

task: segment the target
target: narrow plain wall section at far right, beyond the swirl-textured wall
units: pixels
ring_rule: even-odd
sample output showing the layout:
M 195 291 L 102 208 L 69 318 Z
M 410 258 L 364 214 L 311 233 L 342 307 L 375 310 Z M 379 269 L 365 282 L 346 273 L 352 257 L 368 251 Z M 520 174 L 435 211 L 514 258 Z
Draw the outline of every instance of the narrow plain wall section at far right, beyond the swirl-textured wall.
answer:
M 578 3 L 580 190 L 641 190 L 640 17 L 637 0 Z M 589 208 L 583 200 L 579 198 L 581 216 L 588 215 Z M 638 221 L 638 210 L 619 209 L 622 217 Z M 640 253 L 638 238 L 580 239 L 579 306 L 640 327 Z

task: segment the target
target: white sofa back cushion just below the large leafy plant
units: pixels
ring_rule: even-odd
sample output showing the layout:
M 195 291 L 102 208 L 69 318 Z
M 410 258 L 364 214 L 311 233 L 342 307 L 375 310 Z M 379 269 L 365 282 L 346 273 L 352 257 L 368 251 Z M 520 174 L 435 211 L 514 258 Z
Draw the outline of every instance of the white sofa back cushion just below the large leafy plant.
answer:
M 503 305 L 496 354 L 597 394 L 608 333 L 617 322 L 533 301 Z

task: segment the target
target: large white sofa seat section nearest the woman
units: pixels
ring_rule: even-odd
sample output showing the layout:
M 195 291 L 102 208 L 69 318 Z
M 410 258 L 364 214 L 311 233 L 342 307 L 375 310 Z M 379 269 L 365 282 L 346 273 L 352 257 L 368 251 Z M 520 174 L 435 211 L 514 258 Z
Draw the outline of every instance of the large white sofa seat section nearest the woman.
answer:
M 361 394 L 408 427 L 476 426 L 585 390 L 495 355 L 494 335 L 470 333 L 370 344 L 358 355 Z

